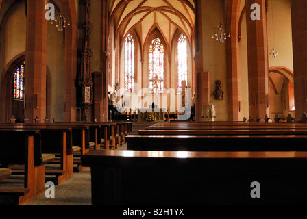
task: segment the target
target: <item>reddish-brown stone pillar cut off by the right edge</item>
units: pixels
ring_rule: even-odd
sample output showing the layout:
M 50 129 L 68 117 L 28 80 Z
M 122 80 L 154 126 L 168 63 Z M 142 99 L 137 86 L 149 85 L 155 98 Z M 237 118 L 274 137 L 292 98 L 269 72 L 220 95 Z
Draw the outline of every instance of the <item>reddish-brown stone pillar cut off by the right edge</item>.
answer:
M 307 112 L 307 1 L 291 0 L 295 120 Z

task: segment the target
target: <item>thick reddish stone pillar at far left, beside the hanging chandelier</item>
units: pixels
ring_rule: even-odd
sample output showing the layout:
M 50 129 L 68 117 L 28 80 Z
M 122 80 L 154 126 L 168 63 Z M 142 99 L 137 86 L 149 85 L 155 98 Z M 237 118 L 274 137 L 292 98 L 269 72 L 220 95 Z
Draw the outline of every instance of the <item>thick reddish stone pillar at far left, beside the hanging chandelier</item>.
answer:
M 27 1 L 25 115 L 30 123 L 46 117 L 47 20 L 45 1 Z

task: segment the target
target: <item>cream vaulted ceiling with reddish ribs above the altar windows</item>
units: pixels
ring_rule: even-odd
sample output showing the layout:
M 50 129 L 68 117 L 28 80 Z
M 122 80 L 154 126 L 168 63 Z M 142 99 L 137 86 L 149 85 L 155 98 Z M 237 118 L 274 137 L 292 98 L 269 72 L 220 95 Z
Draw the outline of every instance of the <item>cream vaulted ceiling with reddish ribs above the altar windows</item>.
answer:
M 116 40 L 121 44 L 125 36 L 137 30 L 140 45 L 154 25 L 159 27 L 167 44 L 175 34 L 182 31 L 191 42 L 195 31 L 195 3 L 193 0 L 108 0 L 110 24 L 114 24 Z

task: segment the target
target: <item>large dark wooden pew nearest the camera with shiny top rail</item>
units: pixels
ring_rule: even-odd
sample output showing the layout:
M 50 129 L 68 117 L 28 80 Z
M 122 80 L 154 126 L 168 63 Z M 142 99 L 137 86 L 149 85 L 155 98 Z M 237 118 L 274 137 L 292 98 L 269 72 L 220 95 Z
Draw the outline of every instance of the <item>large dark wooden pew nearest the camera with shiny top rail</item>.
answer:
M 82 166 L 91 168 L 92 205 L 307 203 L 306 152 L 90 151 Z

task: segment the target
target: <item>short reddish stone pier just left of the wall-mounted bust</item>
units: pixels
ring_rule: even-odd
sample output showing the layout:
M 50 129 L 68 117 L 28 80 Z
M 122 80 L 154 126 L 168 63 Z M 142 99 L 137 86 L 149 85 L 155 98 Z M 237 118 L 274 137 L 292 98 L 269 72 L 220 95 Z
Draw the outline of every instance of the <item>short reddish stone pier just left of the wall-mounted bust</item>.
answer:
M 196 75 L 195 120 L 201 121 L 203 105 L 210 103 L 210 73 Z

